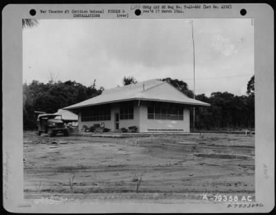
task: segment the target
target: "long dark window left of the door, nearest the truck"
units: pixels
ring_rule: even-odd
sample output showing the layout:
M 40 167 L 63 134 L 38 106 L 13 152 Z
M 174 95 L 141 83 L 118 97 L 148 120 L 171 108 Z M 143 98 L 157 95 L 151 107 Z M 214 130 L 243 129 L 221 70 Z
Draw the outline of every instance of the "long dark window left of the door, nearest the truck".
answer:
M 91 106 L 81 111 L 81 121 L 107 121 L 111 119 L 110 115 L 110 106 L 108 105 Z

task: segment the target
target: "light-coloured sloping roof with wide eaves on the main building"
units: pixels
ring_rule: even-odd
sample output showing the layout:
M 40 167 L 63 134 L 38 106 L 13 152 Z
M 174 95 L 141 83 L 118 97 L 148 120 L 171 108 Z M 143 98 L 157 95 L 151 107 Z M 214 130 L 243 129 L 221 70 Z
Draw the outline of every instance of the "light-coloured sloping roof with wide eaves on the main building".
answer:
M 138 82 L 117 88 L 111 88 L 103 91 L 101 95 L 92 97 L 89 100 L 67 106 L 63 109 L 79 109 L 85 106 L 93 106 L 98 104 L 108 104 L 113 102 L 124 102 L 129 100 L 150 100 L 159 102 L 172 102 L 188 105 L 210 106 L 210 104 L 193 100 L 177 88 L 161 82 L 160 80 L 148 80 L 146 82 Z

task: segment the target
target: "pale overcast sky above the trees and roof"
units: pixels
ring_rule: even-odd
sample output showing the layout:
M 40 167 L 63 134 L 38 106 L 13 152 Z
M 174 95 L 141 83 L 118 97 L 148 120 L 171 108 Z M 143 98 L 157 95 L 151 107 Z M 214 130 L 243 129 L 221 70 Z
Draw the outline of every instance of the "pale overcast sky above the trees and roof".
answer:
M 48 19 L 23 29 L 23 82 L 122 85 L 171 77 L 193 90 L 190 19 Z M 246 94 L 254 75 L 251 19 L 193 19 L 195 93 Z

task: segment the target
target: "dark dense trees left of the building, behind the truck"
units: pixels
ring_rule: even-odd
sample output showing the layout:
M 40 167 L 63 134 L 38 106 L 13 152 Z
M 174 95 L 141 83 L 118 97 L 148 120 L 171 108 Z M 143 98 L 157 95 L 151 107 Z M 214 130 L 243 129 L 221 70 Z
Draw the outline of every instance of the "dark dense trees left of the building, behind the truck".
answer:
M 32 81 L 23 84 L 23 127 L 36 127 L 37 115 L 34 111 L 55 113 L 61 109 L 91 97 L 100 95 L 103 88 L 96 89 L 95 82 L 86 87 L 77 82 L 49 82 L 44 84 Z

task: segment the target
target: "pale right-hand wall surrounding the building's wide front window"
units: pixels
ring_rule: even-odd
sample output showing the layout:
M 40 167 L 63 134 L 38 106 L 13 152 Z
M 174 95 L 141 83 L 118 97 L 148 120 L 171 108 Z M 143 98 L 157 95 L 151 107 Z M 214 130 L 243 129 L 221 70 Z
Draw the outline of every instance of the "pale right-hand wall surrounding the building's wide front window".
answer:
M 151 129 L 154 129 L 154 130 L 151 130 Z M 189 109 L 184 108 L 183 121 L 182 120 L 148 120 L 148 107 L 146 105 L 139 106 L 139 132 L 170 132 L 170 131 L 190 132 Z

